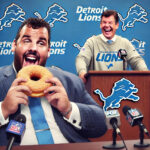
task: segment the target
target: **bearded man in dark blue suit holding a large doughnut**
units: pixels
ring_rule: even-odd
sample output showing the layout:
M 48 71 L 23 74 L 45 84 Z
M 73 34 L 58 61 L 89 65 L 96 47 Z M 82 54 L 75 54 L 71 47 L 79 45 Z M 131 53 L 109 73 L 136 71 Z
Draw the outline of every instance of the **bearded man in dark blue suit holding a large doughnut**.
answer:
M 16 79 L 16 74 L 28 65 L 45 66 L 50 51 L 49 24 L 42 19 L 27 19 L 18 30 L 12 51 L 13 64 L 0 68 L 0 145 L 7 144 L 6 127 L 9 120 L 19 113 L 27 118 L 21 144 L 39 144 L 28 107 L 27 95 L 32 91 L 20 85 L 26 80 Z M 81 79 L 61 69 L 48 69 L 54 77 L 46 82 L 53 86 L 44 91 L 41 103 L 51 126 L 54 143 L 88 142 L 89 138 L 105 134 L 107 127 L 104 112 L 87 93 Z

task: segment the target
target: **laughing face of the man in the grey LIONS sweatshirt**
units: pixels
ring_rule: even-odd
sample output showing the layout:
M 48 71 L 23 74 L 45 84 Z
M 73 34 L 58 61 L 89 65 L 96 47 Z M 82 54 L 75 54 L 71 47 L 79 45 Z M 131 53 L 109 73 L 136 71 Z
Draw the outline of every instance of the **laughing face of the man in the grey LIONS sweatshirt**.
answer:
M 107 39 L 112 39 L 116 33 L 116 30 L 119 27 L 119 23 L 116 23 L 116 20 L 113 15 L 109 17 L 102 17 L 100 28 L 102 30 L 103 35 Z

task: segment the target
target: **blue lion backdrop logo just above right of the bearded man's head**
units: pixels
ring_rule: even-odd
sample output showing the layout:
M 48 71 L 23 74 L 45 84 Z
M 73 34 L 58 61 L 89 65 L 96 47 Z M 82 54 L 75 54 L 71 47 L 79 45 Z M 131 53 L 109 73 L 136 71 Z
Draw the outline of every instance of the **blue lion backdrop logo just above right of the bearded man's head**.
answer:
M 37 17 L 42 18 L 41 15 L 38 12 L 34 13 Z M 43 18 L 45 21 L 47 21 L 51 27 L 54 26 L 54 23 L 56 21 L 61 21 L 61 22 L 67 22 L 68 19 L 66 18 L 67 12 L 65 9 L 63 9 L 60 5 L 58 4 L 53 4 L 48 8 L 47 15 L 45 18 Z

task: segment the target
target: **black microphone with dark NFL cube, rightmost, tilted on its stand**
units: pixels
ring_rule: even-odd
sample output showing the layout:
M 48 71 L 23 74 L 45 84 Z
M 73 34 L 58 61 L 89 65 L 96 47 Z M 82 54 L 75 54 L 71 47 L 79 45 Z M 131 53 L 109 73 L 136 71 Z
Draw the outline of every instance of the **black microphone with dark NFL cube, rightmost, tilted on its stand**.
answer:
M 138 125 L 141 129 L 143 129 L 145 134 L 149 136 L 148 130 L 142 123 L 144 116 L 138 109 L 135 109 L 135 108 L 132 109 L 129 106 L 124 106 L 122 111 L 124 115 L 126 116 L 126 120 L 129 122 L 129 124 L 132 127 Z

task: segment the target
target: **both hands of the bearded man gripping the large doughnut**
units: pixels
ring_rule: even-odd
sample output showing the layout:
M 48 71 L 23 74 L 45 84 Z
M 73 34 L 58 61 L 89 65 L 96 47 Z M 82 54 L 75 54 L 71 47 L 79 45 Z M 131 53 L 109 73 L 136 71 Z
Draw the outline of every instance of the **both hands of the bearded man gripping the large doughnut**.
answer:
M 50 77 L 45 82 L 51 85 L 44 90 L 46 99 L 62 114 L 66 114 L 64 115 L 66 118 L 69 118 L 71 103 L 62 83 L 56 77 Z M 15 79 L 3 101 L 2 111 L 5 119 L 17 111 L 19 104 L 28 105 L 28 95 L 32 95 L 32 91 L 28 86 L 22 85 L 21 83 L 26 83 L 26 79 L 21 77 Z

